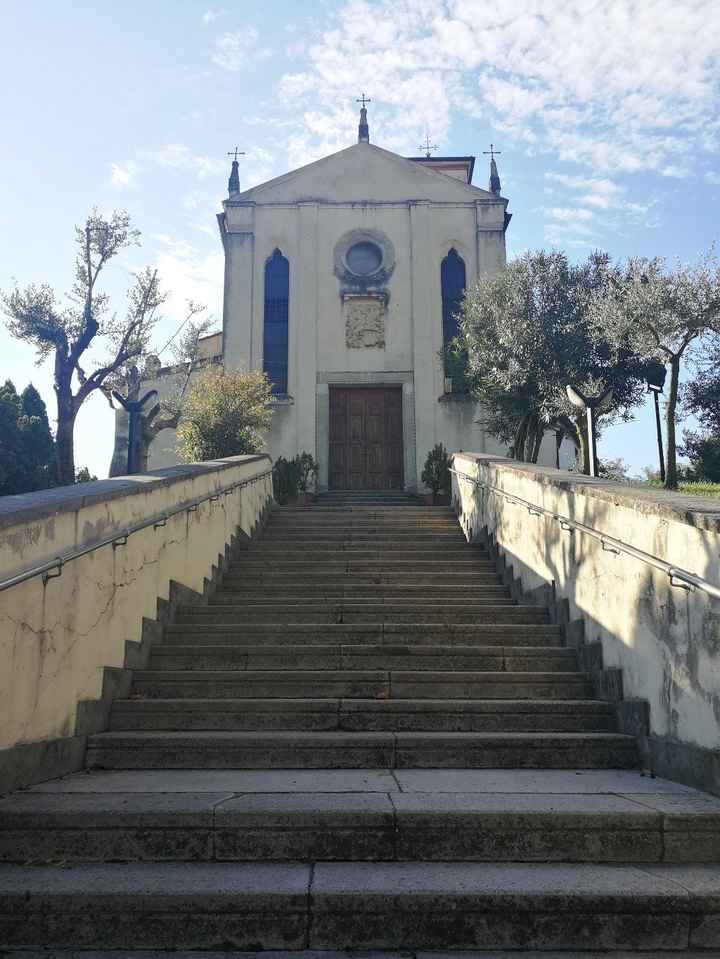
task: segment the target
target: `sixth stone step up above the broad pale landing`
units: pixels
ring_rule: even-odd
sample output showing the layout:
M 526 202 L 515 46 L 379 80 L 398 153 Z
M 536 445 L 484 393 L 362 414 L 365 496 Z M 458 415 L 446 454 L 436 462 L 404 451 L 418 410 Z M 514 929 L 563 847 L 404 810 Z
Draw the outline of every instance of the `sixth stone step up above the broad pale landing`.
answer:
M 540 606 L 495 603 L 464 603 L 438 605 L 415 600 L 412 603 L 352 602 L 334 600 L 332 603 L 301 605 L 299 603 L 254 603 L 237 606 L 208 605 L 183 606 L 176 614 L 178 623 L 467 623 L 481 626 L 486 623 L 547 622 L 547 610 Z

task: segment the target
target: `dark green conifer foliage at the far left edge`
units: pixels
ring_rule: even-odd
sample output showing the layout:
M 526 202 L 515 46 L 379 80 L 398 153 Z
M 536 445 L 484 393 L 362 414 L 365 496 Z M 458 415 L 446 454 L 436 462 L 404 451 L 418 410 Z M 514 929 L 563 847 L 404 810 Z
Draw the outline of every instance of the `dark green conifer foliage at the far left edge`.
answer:
M 0 495 L 54 485 L 55 444 L 45 404 L 32 384 L 18 395 L 7 380 L 0 387 Z

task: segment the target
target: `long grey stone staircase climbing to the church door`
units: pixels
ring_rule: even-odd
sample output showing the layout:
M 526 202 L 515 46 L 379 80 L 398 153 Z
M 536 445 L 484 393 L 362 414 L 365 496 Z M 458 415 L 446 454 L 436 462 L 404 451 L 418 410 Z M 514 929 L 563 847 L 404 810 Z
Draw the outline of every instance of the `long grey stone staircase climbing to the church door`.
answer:
M 0 945 L 711 955 L 720 802 L 637 763 L 448 508 L 278 508 L 88 772 L 0 800 Z

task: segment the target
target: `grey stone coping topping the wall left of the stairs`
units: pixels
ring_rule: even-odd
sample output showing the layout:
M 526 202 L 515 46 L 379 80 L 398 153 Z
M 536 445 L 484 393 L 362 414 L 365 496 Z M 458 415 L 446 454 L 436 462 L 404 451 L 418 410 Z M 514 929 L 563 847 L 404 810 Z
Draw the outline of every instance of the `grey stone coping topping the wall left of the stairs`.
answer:
M 221 473 L 248 463 L 271 462 L 268 453 L 253 453 L 246 456 L 228 456 L 207 460 L 204 463 L 186 463 L 181 466 L 165 466 L 149 470 L 137 476 L 115 476 L 112 479 L 95 480 L 92 483 L 76 483 L 73 486 L 58 486 L 54 489 L 20 493 L 16 496 L 0 496 L 0 531 L 23 523 L 38 522 L 64 513 L 74 513 L 98 503 L 154 492 L 169 488 L 188 479 Z

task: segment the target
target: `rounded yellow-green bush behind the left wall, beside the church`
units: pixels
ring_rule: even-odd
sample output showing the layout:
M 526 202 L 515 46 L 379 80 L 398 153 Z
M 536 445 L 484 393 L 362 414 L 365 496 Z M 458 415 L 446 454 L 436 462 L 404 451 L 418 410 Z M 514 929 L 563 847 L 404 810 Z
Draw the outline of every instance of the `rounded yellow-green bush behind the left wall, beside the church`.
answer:
M 260 370 L 209 367 L 188 390 L 178 429 L 186 463 L 259 453 L 270 426 L 270 383 Z

